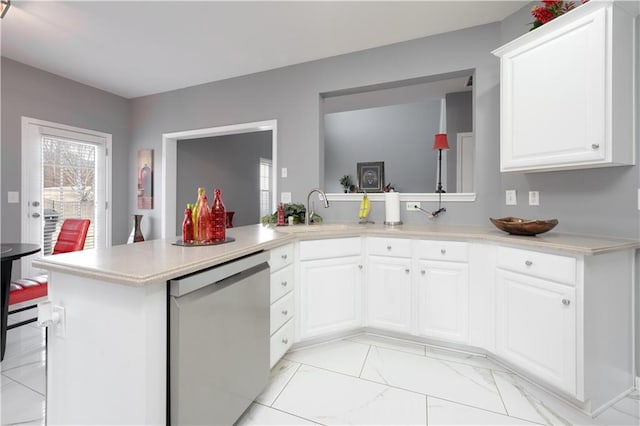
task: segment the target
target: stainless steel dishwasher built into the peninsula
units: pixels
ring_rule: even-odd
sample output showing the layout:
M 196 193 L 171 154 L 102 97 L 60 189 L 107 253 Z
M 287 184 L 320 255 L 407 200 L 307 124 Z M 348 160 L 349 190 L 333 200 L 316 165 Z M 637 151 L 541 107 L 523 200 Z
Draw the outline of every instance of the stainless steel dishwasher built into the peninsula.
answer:
M 268 259 L 260 252 L 169 281 L 172 425 L 231 425 L 266 386 Z

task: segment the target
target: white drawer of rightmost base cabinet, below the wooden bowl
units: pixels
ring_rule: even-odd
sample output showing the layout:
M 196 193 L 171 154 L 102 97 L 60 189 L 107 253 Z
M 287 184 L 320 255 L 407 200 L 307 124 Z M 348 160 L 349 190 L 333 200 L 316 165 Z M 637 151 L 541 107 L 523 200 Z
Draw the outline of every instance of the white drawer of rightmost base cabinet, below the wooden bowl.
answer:
M 514 272 L 574 285 L 576 259 L 557 254 L 498 247 L 498 266 Z

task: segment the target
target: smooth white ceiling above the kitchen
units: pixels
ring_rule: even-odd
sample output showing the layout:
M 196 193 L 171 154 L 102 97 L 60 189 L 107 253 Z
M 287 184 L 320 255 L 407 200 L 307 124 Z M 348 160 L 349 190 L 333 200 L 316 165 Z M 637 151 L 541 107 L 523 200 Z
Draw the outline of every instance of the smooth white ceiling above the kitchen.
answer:
M 21 1 L 2 56 L 133 98 L 500 21 L 523 1 Z

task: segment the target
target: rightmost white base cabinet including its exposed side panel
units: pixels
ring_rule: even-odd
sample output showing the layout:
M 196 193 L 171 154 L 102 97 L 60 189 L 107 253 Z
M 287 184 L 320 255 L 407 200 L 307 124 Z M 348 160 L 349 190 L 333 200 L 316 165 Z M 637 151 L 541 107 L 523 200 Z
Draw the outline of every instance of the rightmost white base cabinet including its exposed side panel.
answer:
M 633 251 L 497 248 L 495 354 L 588 412 L 633 388 Z

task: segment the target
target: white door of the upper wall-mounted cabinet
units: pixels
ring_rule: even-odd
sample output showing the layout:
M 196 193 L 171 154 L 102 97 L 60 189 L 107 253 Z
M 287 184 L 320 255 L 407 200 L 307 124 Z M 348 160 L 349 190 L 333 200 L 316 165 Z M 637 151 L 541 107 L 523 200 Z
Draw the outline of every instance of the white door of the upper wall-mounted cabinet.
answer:
M 501 170 L 610 162 L 606 9 L 534 33 L 502 55 Z

